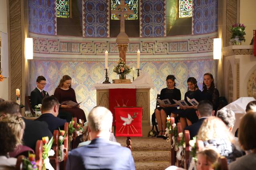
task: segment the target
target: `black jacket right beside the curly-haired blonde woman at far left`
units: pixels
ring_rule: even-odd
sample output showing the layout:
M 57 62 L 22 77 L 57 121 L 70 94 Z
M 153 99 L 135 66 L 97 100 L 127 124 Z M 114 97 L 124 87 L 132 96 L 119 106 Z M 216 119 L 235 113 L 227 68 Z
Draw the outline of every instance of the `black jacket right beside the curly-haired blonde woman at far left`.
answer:
M 23 143 L 25 146 L 35 150 L 36 141 L 42 140 L 42 137 L 48 136 L 49 139 L 52 137 L 52 133 L 48 129 L 48 125 L 45 122 L 28 120 L 22 117 L 26 127 L 23 135 Z

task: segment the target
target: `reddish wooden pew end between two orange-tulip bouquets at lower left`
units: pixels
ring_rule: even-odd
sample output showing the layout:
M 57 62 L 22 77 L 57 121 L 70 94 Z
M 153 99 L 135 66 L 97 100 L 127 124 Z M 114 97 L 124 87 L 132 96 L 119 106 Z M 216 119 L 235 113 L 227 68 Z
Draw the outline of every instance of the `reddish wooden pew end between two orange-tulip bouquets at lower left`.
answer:
M 55 154 L 54 156 L 49 156 L 49 159 L 50 159 L 50 163 L 52 164 L 52 167 L 55 169 L 55 170 L 59 170 L 60 169 L 60 163 L 59 163 L 59 160 L 58 160 L 58 149 L 59 149 L 59 145 L 58 145 L 58 139 L 59 139 L 59 131 L 58 130 L 55 130 L 53 132 L 53 143 L 52 143 L 52 149 L 54 150 Z

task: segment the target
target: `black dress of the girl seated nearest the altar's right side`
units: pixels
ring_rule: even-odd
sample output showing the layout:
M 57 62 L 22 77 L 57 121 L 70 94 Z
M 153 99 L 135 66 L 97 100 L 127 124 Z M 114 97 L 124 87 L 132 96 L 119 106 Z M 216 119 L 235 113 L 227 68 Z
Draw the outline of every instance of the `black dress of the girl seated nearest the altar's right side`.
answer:
M 160 100 L 164 100 L 164 99 L 169 99 L 171 104 L 175 104 L 175 102 L 172 99 L 175 99 L 175 100 L 181 99 L 180 90 L 178 88 L 174 88 L 174 89 L 163 88 L 160 93 Z M 166 115 L 170 116 L 172 111 L 177 110 L 177 107 L 157 107 L 156 109 L 158 110 L 163 109 Z

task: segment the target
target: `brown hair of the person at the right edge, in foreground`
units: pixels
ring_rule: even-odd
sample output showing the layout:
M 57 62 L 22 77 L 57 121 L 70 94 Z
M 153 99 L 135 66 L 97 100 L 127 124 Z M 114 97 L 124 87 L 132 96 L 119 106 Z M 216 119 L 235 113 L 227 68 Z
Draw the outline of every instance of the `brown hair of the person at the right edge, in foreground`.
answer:
M 252 129 L 256 129 L 256 112 L 246 113 L 240 122 L 238 139 L 244 150 L 256 149 L 256 135 Z

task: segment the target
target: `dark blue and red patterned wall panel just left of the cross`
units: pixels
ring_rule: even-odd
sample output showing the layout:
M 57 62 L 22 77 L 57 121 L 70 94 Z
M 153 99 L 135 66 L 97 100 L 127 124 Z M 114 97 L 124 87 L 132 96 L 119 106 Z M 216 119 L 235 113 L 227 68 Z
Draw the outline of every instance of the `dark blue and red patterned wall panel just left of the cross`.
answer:
M 108 0 L 83 0 L 84 37 L 109 37 L 108 6 Z

